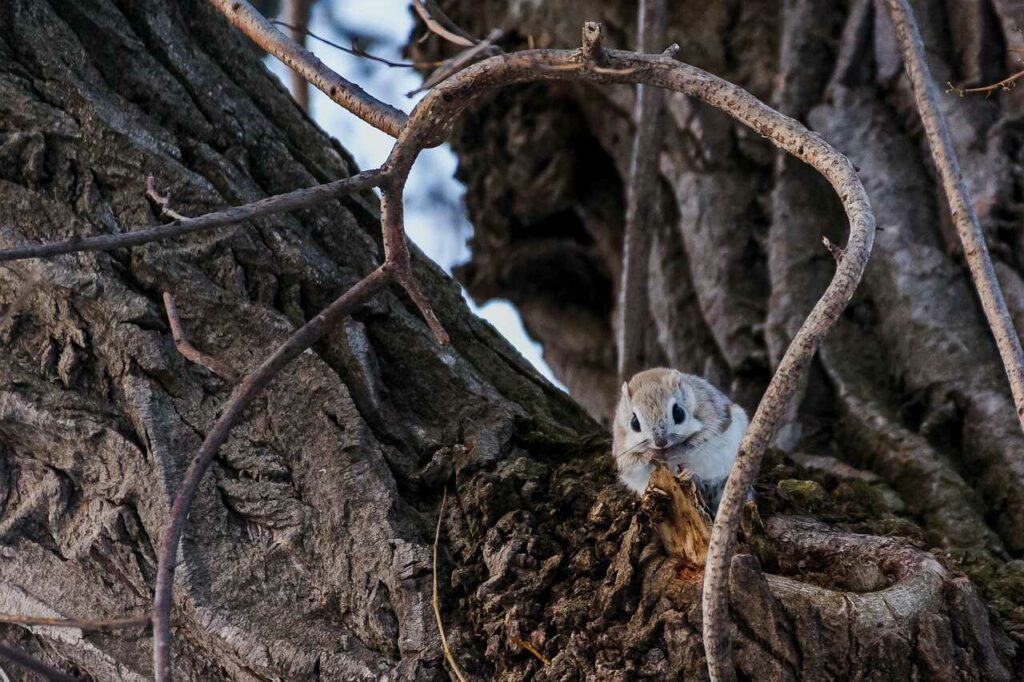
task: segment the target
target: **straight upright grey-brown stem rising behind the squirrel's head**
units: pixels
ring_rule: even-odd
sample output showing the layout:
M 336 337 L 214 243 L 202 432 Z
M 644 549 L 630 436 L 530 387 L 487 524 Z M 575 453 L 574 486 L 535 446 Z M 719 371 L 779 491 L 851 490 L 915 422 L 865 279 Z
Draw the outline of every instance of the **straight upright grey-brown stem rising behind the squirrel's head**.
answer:
M 653 52 L 665 44 L 666 0 L 640 0 L 637 16 L 639 51 Z M 647 260 L 650 256 L 650 220 L 657 201 L 658 161 L 662 156 L 660 88 L 637 85 L 636 133 L 626 196 L 626 235 L 623 238 L 623 272 L 618 289 L 618 381 L 643 369 L 648 322 Z

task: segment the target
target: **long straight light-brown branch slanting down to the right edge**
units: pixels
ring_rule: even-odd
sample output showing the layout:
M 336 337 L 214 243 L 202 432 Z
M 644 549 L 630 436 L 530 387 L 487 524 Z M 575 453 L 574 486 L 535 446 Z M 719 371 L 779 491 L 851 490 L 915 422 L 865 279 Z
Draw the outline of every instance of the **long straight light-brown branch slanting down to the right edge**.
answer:
M 971 271 L 971 279 L 974 280 L 975 289 L 978 290 L 985 318 L 988 319 L 988 326 L 995 337 L 995 345 L 998 346 L 1002 367 L 1006 368 L 1010 380 L 1010 390 L 1014 394 L 1017 418 L 1021 428 L 1024 428 L 1024 351 L 1021 350 L 1020 337 L 1014 329 L 1013 318 L 1007 310 L 1007 302 L 995 279 L 992 259 L 985 244 L 985 233 L 981 230 L 967 185 L 964 183 L 956 152 L 949 136 L 949 127 L 939 109 L 939 96 L 925 58 L 925 45 L 918 31 L 918 23 L 906 0 L 887 0 L 886 6 L 893 26 L 896 27 L 903 63 L 913 85 L 918 111 L 921 112 L 928 143 L 932 148 L 932 160 L 939 171 L 939 177 L 942 178 L 942 188 L 949 202 L 949 211 L 956 224 L 956 233 L 959 235 L 961 244 L 964 245 L 964 258 Z

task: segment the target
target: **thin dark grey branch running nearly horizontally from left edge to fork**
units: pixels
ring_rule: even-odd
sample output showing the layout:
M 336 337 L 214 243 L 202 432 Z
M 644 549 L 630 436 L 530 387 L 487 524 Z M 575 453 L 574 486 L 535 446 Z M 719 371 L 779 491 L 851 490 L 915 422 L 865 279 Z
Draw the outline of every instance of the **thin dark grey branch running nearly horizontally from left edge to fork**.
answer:
M 0 250 L 0 262 L 24 258 L 44 258 L 79 251 L 113 251 L 124 247 L 138 246 L 147 242 L 180 237 L 202 229 L 222 227 L 231 223 L 250 220 L 272 213 L 284 213 L 309 208 L 337 199 L 341 195 L 375 187 L 384 180 L 384 171 L 372 170 L 358 173 L 342 180 L 335 180 L 314 187 L 296 189 L 285 195 L 261 199 L 252 204 L 236 206 L 215 213 L 207 213 L 196 218 L 175 220 L 166 225 L 146 227 L 121 235 L 100 235 L 98 237 L 74 238 L 63 242 L 16 247 Z

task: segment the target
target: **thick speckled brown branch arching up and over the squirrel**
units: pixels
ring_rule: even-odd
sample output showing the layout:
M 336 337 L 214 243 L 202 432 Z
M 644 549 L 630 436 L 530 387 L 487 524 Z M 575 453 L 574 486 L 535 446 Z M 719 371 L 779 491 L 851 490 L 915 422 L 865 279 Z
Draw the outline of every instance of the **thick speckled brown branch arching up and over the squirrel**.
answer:
M 801 123 L 779 114 L 739 86 L 695 67 L 664 55 L 602 50 L 599 36 L 585 31 L 584 37 L 582 50 L 529 50 L 499 55 L 441 83 L 413 110 L 388 158 L 387 168 L 392 173 L 391 180 L 403 184 L 420 151 L 436 143 L 438 122 L 450 121 L 472 100 L 499 86 L 535 80 L 582 80 L 643 83 L 697 97 L 810 164 L 836 189 L 850 220 L 844 257 L 794 336 L 751 420 L 712 529 L 702 596 L 705 649 L 712 679 L 731 679 L 734 671 L 729 645 L 728 564 L 735 549 L 743 500 L 821 338 L 846 308 L 860 282 L 874 242 L 874 216 L 853 164 Z M 594 66 L 597 61 L 600 68 Z

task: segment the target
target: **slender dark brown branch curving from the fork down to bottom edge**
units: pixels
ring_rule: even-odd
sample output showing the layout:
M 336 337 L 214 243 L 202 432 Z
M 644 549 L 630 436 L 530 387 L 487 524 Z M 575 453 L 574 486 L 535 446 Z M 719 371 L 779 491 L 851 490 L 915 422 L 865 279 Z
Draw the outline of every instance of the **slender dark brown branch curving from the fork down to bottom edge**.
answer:
M 312 346 L 324 334 L 342 318 L 351 314 L 372 296 L 384 288 L 391 279 L 391 267 L 381 265 L 342 294 L 323 312 L 296 330 L 285 343 L 247 376 L 239 385 L 231 399 L 224 407 L 220 418 L 207 433 L 206 439 L 185 471 L 174 496 L 170 519 L 160 538 L 158 553 L 157 586 L 154 597 L 153 666 L 157 682 L 169 682 L 171 676 L 171 605 L 174 590 L 174 569 L 184 530 L 188 508 L 199 489 L 217 451 L 227 440 L 231 429 L 242 419 L 242 414 L 260 390 L 270 383 L 282 368 Z

